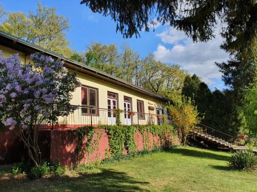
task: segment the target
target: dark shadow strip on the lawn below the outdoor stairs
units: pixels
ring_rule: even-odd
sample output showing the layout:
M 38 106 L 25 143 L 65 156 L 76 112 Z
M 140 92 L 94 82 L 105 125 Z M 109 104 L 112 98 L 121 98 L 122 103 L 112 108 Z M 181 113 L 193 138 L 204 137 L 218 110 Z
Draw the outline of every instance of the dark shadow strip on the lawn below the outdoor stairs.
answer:
M 216 159 L 216 160 L 223 160 L 227 161 L 229 160 L 228 156 L 225 155 L 217 155 L 210 152 L 200 152 L 193 150 L 191 148 L 173 148 L 172 150 L 169 150 L 171 153 L 177 153 L 184 156 L 190 156 L 190 157 L 197 157 L 197 158 L 206 158 L 206 159 Z

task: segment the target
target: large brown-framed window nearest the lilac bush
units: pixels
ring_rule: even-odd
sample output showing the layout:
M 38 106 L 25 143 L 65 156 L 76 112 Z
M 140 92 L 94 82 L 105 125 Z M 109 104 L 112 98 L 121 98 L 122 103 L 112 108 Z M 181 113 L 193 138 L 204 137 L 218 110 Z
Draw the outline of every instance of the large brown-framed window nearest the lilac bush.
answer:
M 97 115 L 98 106 L 98 89 L 90 87 L 81 87 L 81 105 L 82 114 L 94 114 Z

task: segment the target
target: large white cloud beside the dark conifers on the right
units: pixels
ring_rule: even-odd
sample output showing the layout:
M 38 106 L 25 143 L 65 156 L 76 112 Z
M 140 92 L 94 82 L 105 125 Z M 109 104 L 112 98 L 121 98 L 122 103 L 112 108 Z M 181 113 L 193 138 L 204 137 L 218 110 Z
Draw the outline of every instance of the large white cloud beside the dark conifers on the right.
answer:
M 215 31 L 215 35 L 216 38 L 208 42 L 196 43 L 183 32 L 170 27 L 156 36 L 160 37 L 164 44 L 171 44 L 172 47 L 167 48 L 167 45 L 159 44 L 154 55 L 160 61 L 177 63 L 191 74 L 195 73 L 211 88 L 221 88 L 222 74 L 214 62 L 226 61 L 229 55 L 219 49 L 222 38 L 218 30 Z M 216 81 L 219 81 L 219 84 Z

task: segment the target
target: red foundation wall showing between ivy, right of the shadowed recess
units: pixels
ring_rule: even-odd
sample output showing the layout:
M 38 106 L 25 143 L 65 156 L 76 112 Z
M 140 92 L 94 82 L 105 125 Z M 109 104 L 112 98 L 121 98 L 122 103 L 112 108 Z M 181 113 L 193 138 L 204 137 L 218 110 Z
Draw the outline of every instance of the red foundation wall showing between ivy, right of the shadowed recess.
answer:
M 78 145 L 78 140 L 76 139 L 75 130 L 53 130 L 51 137 L 51 148 L 50 148 L 50 159 L 52 161 L 61 162 L 63 165 L 74 165 L 76 163 L 76 148 Z M 81 158 L 80 163 L 83 162 L 93 162 L 100 161 L 105 158 L 106 150 L 110 152 L 108 145 L 108 135 L 104 129 L 96 129 L 93 136 L 93 141 L 97 139 L 98 133 L 102 136 L 99 139 L 98 146 L 95 146 L 93 153 L 85 153 Z M 143 150 L 143 136 L 139 131 L 134 134 L 136 150 Z M 152 150 L 154 141 L 160 146 L 160 139 L 158 136 L 153 136 L 149 134 L 150 139 L 150 150 Z M 93 143 L 93 142 L 91 142 Z M 83 140 L 83 148 L 87 144 L 87 138 Z M 126 154 L 124 150 L 124 154 Z

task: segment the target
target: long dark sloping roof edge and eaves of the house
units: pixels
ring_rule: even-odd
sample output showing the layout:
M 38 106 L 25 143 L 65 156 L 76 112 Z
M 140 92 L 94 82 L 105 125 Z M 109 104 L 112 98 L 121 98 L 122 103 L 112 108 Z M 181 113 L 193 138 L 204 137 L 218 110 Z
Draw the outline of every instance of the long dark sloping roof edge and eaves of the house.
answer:
M 44 49 L 40 46 L 36 46 L 34 44 L 31 44 L 28 41 L 25 41 L 23 39 L 17 38 L 13 35 L 10 35 L 8 33 L 5 33 L 3 31 L 0 31 L 0 40 L 1 45 L 4 45 L 6 47 L 10 47 L 12 49 L 15 49 L 17 51 L 21 51 L 27 54 L 31 54 L 34 52 L 42 52 L 44 54 L 47 54 L 49 56 L 52 56 L 53 58 L 61 58 L 64 61 L 64 66 L 70 69 L 74 69 L 76 71 L 80 71 L 82 73 L 106 80 L 108 82 L 115 83 L 119 86 L 140 92 L 144 95 L 148 95 L 150 97 L 162 100 L 162 101 L 169 101 L 169 99 L 162 97 L 156 93 L 150 92 L 148 90 L 145 90 L 143 88 L 140 88 L 136 86 L 135 84 L 126 82 L 123 79 L 117 78 L 115 76 L 109 75 L 107 73 L 104 73 L 102 71 L 99 71 L 95 68 L 83 65 L 83 63 L 69 59 L 67 57 L 64 57 L 63 55 L 60 55 L 58 53 L 52 52 L 50 50 Z

